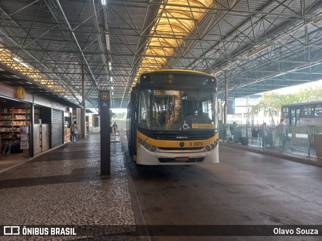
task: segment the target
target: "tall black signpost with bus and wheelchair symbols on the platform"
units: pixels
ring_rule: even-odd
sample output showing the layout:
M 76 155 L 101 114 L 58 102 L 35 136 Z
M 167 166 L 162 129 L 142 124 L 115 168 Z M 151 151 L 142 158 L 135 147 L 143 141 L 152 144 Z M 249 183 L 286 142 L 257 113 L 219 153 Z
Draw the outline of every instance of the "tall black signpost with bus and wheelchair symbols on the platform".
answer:
M 100 90 L 101 176 L 111 175 L 110 91 Z

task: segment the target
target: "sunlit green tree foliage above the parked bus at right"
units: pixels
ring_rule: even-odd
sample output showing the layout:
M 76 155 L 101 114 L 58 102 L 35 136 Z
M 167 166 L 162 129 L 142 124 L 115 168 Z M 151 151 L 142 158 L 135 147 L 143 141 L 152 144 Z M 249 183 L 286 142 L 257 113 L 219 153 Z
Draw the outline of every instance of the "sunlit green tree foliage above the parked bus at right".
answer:
M 322 87 L 308 87 L 300 89 L 294 94 L 278 94 L 273 91 L 266 92 L 262 95 L 262 100 L 252 106 L 251 113 L 258 114 L 260 111 L 267 112 L 274 124 L 273 113 L 280 112 L 282 104 L 293 104 L 322 100 Z

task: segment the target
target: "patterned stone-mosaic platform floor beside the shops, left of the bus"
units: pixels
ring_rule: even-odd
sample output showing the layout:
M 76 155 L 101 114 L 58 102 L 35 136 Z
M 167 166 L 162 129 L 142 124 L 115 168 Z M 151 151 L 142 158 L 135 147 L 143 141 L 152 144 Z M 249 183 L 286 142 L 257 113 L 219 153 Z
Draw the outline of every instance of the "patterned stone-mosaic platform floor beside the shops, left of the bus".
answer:
M 67 144 L 18 167 L 0 173 L 0 225 L 135 224 L 134 213 L 117 140 L 111 144 L 112 172 L 98 175 L 100 135 Z M 0 236 L 0 240 L 135 240 L 129 236 Z

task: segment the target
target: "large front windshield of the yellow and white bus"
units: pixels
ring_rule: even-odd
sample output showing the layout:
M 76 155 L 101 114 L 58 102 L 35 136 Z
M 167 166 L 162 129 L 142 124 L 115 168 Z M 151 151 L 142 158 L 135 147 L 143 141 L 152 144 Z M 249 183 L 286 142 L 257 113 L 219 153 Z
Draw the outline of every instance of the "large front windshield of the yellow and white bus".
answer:
M 140 90 L 138 126 L 157 131 L 215 129 L 216 92 L 196 90 Z

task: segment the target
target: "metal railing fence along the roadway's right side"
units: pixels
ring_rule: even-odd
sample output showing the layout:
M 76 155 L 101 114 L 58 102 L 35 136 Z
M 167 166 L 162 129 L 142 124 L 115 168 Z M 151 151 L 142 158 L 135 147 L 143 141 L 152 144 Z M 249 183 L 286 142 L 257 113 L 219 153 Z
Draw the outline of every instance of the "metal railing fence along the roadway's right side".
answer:
M 219 139 L 262 149 L 322 157 L 322 127 L 317 126 L 221 124 Z

